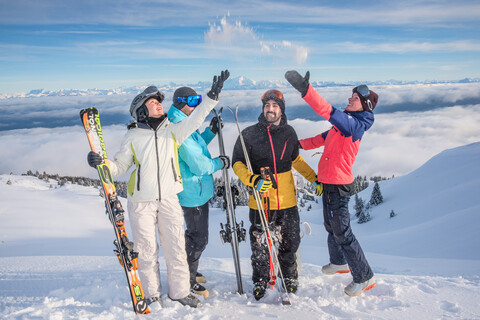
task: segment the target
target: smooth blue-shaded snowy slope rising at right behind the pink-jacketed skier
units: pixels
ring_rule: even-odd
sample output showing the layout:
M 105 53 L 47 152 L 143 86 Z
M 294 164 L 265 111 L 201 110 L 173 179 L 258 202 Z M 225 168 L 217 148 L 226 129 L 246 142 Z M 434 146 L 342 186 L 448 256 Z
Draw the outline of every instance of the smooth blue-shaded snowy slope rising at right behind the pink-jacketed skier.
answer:
M 479 163 L 480 143 L 473 143 L 445 150 L 406 176 L 380 182 L 384 203 L 372 210 L 372 221 L 358 226 L 362 244 L 382 254 L 480 260 Z M 359 196 L 370 200 L 372 188 Z M 390 218 L 391 210 L 396 217 Z

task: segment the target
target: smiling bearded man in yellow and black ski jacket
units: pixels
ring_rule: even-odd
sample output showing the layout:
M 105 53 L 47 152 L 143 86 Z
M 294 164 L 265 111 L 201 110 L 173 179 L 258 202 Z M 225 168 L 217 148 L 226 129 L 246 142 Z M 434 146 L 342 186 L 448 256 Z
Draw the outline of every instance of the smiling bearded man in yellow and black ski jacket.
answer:
M 237 139 L 233 149 L 233 170 L 245 185 L 261 193 L 269 190 L 268 222 L 271 230 L 279 232 L 278 259 L 286 289 L 290 293 L 295 293 L 298 287 L 295 254 L 300 245 L 300 218 L 292 166 L 311 183 L 317 181 L 317 176 L 299 155 L 297 134 L 287 124 L 283 94 L 278 90 L 268 90 L 261 100 L 263 109 L 258 117 L 258 123 L 242 131 L 253 172 L 247 169 L 240 138 Z M 262 179 L 260 175 L 262 167 L 270 168 L 271 179 L 275 179 L 276 189 L 272 188 L 271 181 Z M 249 197 L 249 208 L 253 294 L 255 299 L 259 300 L 265 295 L 270 280 L 270 262 L 268 248 L 262 241 L 259 211 L 253 195 Z

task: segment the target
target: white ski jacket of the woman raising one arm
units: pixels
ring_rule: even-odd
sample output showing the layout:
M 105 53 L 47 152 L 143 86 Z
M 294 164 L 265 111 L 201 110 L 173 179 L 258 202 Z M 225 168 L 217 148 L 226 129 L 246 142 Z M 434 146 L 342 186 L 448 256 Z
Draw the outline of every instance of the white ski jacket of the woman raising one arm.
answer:
M 165 118 L 157 130 L 144 123 L 125 134 L 120 151 L 109 166 L 120 176 L 135 163 L 128 182 L 128 194 L 136 202 L 156 201 L 176 196 L 183 190 L 178 164 L 178 148 L 197 130 L 218 101 L 204 96 L 203 102 L 185 120 L 171 123 Z

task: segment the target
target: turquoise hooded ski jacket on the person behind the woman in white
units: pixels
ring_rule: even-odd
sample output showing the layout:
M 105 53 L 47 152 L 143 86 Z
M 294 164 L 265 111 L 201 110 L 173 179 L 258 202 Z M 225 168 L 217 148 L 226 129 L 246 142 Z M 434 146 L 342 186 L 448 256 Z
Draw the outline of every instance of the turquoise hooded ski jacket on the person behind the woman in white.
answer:
M 193 113 L 195 113 L 193 111 Z M 187 117 L 173 105 L 167 113 L 168 120 L 178 123 Z M 212 173 L 222 169 L 223 162 L 219 158 L 212 159 L 207 145 L 215 134 L 206 128 L 203 133 L 196 130 L 178 149 L 180 172 L 183 179 L 183 191 L 178 193 L 180 205 L 198 207 L 213 197 L 215 183 Z

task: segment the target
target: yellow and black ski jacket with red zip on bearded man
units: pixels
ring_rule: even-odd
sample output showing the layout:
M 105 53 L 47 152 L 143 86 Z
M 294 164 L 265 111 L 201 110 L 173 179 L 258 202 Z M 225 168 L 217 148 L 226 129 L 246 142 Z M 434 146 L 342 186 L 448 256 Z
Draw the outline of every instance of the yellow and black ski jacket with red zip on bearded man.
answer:
M 270 210 L 281 210 L 297 205 L 295 182 L 292 166 L 310 182 L 317 179 L 315 171 L 300 156 L 298 138 L 295 130 L 287 124 L 285 114 L 278 126 L 267 122 L 263 113 L 258 123 L 242 131 L 252 170 L 247 169 L 240 137 L 233 149 L 233 171 L 239 179 L 249 187 L 260 175 L 260 168 L 269 167 L 272 179 L 277 182 L 277 189 L 270 189 Z M 253 195 L 250 195 L 248 206 L 258 209 Z

